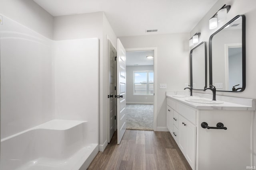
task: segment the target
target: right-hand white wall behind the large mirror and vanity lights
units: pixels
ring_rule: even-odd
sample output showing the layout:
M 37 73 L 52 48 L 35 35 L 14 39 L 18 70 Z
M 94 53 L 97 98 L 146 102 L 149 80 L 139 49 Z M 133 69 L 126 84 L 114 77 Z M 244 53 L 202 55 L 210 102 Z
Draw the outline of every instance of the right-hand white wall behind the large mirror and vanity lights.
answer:
M 228 12 L 228 19 L 218 23 L 218 28 L 209 29 L 209 19 L 224 5 L 231 5 Z M 246 88 L 243 92 L 217 92 L 218 95 L 236 96 L 242 98 L 256 98 L 256 57 L 255 57 L 255 37 L 256 37 L 256 1 L 254 0 L 221 0 L 211 8 L 202 20 L 192 29 L 190 36 L 196 32 L 201 32 L 200 41 L 207 41 L 212 33 L 222 27 L 226 22 L 237 15 L 244 14 L 246 17 Z M 208 47 L 207 47 L 208 48 Z M 209 81 L 208 81 L 209 82 Z M 200 91 L 201 92 L 201 91 Z M 256 119 L 254 118 L 254 155 L 256 154 Z M 256 156 L 254 156 L 256 162 Z

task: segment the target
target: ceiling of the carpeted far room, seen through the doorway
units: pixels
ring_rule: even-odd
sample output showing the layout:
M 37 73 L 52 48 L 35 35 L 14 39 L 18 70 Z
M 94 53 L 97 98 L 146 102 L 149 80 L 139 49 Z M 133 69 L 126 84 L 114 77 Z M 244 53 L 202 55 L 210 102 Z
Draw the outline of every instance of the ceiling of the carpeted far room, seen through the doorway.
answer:
M 147 56 L 154 56 L 154 51 L 126 51 L 126 66 L 152 66 L 154 59 L 148 59 Z

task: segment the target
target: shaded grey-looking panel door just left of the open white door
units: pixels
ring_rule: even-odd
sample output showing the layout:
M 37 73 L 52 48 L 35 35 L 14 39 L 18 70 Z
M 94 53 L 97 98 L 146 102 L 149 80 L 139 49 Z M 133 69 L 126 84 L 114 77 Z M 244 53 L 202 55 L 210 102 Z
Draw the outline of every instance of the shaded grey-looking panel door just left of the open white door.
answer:
M 108 40 L 108 143 L 116 131 L 116 49 Z

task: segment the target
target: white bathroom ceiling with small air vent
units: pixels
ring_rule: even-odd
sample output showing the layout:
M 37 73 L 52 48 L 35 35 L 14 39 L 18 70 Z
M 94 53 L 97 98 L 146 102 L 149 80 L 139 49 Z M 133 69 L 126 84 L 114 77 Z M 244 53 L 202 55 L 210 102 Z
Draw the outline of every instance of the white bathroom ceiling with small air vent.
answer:
M 52 16 L 103 11 L 117 37 L 190 32 L 217 0 L 34 0 Z M 146 29 L 158 29 L 146 33 Z

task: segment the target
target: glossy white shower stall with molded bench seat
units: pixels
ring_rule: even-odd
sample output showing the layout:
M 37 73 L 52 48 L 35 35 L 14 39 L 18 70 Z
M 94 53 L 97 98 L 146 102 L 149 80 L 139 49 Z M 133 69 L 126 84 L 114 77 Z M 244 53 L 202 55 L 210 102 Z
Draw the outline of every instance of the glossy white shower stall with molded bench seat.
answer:
M 98 153 L 98 38 L 53 41 L 2 17 L 0 169 L 86 169 Z

